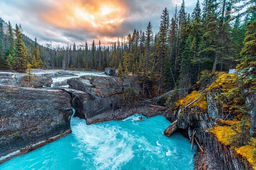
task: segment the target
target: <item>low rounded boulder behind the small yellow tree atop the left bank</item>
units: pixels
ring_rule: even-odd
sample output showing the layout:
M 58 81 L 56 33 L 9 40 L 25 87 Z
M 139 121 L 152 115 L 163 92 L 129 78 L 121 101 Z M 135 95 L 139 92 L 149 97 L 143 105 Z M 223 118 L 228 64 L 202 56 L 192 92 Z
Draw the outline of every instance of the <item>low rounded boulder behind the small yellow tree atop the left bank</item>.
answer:
M 51 84 L 52 84 L 51 77 L 46 76 L 46 75 L 35 75 L 34 80 L 32 83 L 30 83 L 30 85 L 29 85 L 28 77 L 23 76 L 23 77 L 21 77 L 21 79 L 18 83 L 18 85 L 20 87 L 30 87 L 31 85 L 33 87 L 42 87 L 42 86 L 51 85 Z

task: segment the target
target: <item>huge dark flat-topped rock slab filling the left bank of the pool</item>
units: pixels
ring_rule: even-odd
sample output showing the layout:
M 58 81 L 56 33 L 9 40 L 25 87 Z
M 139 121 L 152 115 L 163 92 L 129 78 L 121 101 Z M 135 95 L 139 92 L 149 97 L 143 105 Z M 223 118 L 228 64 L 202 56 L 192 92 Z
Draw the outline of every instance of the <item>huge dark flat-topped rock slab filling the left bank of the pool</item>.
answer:
M 0 163 L 71 132 L 70 95 L 0 85 Z

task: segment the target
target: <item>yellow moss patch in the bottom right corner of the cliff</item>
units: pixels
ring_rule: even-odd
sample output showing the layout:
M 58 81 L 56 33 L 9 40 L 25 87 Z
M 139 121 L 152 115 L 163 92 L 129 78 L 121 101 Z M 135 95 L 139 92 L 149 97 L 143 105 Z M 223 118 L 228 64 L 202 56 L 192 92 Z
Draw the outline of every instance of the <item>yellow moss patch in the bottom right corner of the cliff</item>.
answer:
M 256 151 L 254 146 L 242 146 L 236 149 L 236 152 L 243 156 L 253 166 L 253 169 L 256 170 L 256 157 L 253 154 L 254 151 Z

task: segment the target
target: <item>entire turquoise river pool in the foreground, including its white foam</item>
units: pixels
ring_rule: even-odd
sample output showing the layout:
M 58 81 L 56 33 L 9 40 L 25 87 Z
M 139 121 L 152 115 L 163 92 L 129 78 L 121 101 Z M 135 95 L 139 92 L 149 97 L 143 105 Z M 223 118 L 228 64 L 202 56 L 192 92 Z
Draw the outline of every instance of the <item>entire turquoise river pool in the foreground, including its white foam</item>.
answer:
M 72 133 L 15 157 L 0 170 L 192 170 L 191 144 L 181 133 L 163 135 L 170 122 L 157 115 L 86 125 L 72 117 Z

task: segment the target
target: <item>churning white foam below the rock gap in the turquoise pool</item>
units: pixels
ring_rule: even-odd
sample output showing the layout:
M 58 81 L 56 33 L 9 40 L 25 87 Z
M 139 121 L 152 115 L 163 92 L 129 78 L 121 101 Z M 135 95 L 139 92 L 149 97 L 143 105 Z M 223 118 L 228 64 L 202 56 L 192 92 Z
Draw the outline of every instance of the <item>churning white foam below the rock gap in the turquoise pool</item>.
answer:
M 72 119 L 72 134 L 79 141 L 77 147 L 81 151 L 93 153 L 92 159 L 97 169 L 117 169 L 126 164 L 134 155 L 132 145 L 134 140 L 120 127 L 103 125 L 86 125 L 79 118 Z M 120 135 L 121 134 L 121 135 Z M 117 138 L 118 137 L 118 138 Z M 78 158 L 85 160 L 86 156 L 78 154 Z

